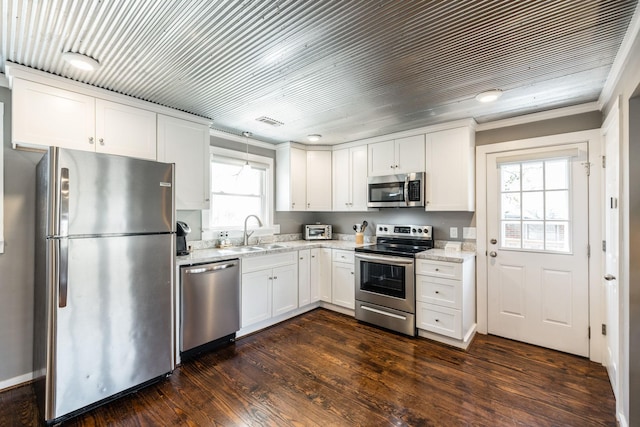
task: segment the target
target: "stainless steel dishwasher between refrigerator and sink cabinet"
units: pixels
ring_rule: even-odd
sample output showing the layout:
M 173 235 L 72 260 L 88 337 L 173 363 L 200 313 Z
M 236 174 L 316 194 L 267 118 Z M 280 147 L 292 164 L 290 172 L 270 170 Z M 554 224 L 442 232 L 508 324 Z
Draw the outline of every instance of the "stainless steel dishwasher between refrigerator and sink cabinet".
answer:
M 240 329 L 240 261 L 181 267 L 180 284 L 182 358 L 235 340 Z

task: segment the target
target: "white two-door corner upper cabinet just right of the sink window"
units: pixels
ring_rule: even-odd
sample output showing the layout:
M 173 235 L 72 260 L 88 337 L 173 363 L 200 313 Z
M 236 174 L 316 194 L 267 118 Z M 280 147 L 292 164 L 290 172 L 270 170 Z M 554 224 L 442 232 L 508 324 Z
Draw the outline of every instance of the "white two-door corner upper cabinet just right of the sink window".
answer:
M 331 152 L 276 149 L 276 210 L 331 210 Z

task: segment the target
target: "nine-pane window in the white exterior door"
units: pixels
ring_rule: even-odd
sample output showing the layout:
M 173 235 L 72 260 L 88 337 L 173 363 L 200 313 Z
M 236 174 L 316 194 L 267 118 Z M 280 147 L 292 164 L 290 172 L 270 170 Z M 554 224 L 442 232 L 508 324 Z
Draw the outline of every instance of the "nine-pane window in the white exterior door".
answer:
M 569 158 L 500 165 L 503 249 L 571 252 Z

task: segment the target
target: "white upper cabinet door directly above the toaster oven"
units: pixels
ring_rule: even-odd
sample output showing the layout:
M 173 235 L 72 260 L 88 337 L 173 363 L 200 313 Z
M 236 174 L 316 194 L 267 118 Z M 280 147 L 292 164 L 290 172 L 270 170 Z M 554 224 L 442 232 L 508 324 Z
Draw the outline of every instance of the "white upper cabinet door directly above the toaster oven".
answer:
M 307 210 L 331 210 L 331 151 L 307 151 Z

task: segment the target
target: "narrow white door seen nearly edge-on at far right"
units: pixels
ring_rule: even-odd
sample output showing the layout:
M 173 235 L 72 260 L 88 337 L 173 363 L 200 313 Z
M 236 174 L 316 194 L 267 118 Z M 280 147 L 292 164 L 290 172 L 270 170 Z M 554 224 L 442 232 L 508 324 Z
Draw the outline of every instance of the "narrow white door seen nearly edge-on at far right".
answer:
M 603 151 L 605 153 L 604 172 L 604 221 L 605 221 L 605 266 L 604 266 L 604 321 L 606 322 L 606 340 L 604 349 L 604 365 L 609 373 L 613 393 L 618 398 L 618 365 L 619 365 L 619 214 L 618 199 L 620 197 L 619 174 L 619 122 L 617 109 L 610 113 L 603 127 Z

